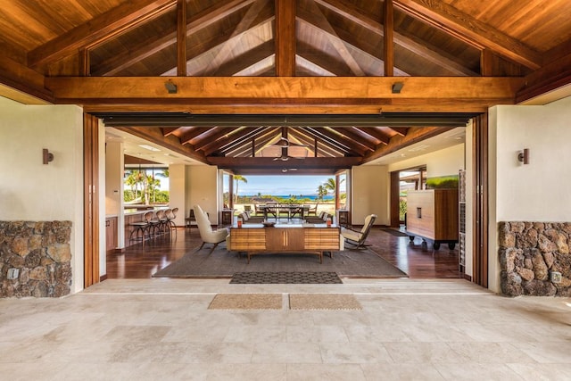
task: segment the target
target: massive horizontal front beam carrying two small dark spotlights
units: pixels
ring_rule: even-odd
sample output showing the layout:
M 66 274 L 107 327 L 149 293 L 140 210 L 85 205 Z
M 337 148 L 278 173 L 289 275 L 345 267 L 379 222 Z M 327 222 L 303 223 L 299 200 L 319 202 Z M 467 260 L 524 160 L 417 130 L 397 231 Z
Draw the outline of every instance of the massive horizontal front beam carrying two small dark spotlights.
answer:
M 168 79 L 178 86 L 177 94 L 168 94 L 164 88 Z M 312 104 L 337 113 L 378 113 L 390 106 L 401 112 L 481 112 L 492 104 L 513 104 L 522 84 L 522 79 L 495 77 L 399 80 L 403 83 L 400 94 L 392 93 L 394 79 L 384 77 L 57 77 L 46 78 L 46 87 L 53 91 L 58 104 L 83 104 L 86 109 L 89 104 L 107 104 L 108 110 L 113 110 L 114 104 L 121 109 L 128 104 L 144 104 L 146 112 L 157 107 L 161 112 L 178 108 L 200 113 L 193 106 L 200 104 L 209 113 L 236 113 L 251 104 L 252 113 L 277 114 L 287 109 L 304 113 Z M 208 104 L 210 108 L 205 107 Z M 312 108 L 315 110 L 319 108 Z

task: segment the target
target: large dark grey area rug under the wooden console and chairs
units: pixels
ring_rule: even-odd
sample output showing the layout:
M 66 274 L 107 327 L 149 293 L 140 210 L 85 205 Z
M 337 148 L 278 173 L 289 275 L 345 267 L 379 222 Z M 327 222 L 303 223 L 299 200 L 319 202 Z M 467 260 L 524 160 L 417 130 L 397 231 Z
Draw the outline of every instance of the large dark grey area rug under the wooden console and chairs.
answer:
M 153 277 L 233 277 L 240 272 L 335 272 L 339 277 L 407 277 L 400 269 L 370 249 L 334 252 L 333 258 L 323 256 L 323 263 L 315 255 L 258 254 L 250 263 L 245 256 L 228 252 L 224 246 L 186 253 Z

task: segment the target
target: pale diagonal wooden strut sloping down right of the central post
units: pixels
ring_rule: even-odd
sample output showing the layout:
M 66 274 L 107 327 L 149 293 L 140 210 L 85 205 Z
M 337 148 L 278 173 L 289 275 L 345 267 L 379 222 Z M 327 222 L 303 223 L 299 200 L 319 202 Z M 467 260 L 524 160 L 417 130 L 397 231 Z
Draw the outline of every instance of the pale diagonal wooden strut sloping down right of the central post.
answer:
M 329 42 L 335 47 L 335 50 L 343 58 L 343 61 L 347 63 L 347 66 L 349 66 L 353 74 L 356 76 L 364 76 L 365 72 L 360 68 L 359 62 L 357 62 L 351 52 L 349 52 L 347 46 L 345 46 L 345 42 L 337 36 L 335 29 L 331 26 L 329 21 L 327 21 L 327 18 L 323 12 L 321 12 L 317 4 L 315 4 L 313 0 L 302 0 L 302 4 L 310 9 L 300 8 L 300 17 L 298 19 L 307 22 L 316 29 L 315 31 L 317 33 L 325 32 Z

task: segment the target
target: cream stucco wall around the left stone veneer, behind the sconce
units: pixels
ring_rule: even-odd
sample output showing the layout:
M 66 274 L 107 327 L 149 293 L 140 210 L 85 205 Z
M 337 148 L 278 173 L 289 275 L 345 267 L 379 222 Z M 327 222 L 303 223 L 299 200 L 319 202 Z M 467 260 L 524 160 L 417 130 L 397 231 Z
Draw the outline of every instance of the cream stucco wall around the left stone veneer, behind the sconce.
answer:
M 83 288 L 83 112 L 0 97 L 0 220 L 69 220 L 72 292 Z M 42 149 L 54 162 L 42 163 Z

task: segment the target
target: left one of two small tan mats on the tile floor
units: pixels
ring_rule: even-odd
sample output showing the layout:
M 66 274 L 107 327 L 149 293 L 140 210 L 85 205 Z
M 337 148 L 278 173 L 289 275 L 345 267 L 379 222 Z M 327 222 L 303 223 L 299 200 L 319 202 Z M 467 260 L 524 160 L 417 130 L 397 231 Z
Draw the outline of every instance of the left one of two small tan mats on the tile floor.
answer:
M 282 294 L 216 294 L 209 310 L 281 310 Z

